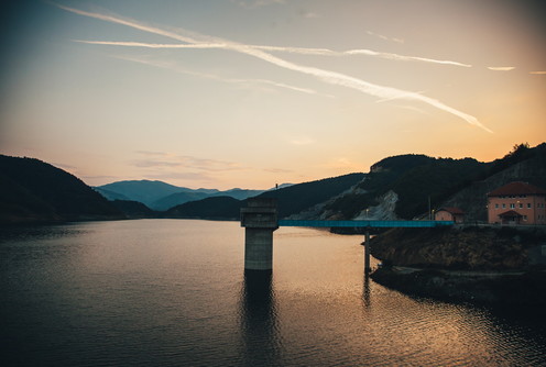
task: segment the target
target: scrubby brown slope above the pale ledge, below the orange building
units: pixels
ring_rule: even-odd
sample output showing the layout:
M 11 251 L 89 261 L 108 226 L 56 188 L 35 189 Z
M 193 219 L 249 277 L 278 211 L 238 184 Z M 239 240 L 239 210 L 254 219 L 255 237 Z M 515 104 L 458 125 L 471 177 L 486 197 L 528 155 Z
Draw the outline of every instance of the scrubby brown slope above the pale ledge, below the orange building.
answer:
M 533 229 L 532 229 L 533 230 Z M 393 229 L 371 241 L 374 257 L 400 266 L 444 269 L 521 269 L 544 232 L 511 227 Z

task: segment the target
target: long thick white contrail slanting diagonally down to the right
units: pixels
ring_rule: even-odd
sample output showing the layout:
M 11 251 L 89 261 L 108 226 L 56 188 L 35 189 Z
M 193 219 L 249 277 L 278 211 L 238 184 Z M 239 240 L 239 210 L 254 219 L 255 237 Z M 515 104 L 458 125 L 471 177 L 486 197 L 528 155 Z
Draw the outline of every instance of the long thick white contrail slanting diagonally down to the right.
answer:
M 133 27 L 136 30 L 163 35 L 163 36 L 166 36 L 166 37 L 170 37 L 170 38 L 173 38 L 176 41 L 182 41 L 185 43 L 222 44 L 222 45 L 225 45 L 223 47 L 221 47 L 223 49 L 230 49 L 230 51 L 239 52 L 239 53 L 247 54 L 250 56 L 254 56 L 256 58 L 260 58 L 264 62 L 271 63 L 271 64 L 276 65 L 279 67 L 282 67 L 282 68 L 285 68 L 288 70 L 298 71 L 298 73 L 306 74 L 306 75 L 310 75 L 310 76 L 314 76 L 314 77 L 316 77 L 316 78 L 318 78 L 318 79 L 320 79 L 327 84 L 343 86 L 347 88 L 356 89 L 356 90 L 359 90 L 359 91 L 367 93 L 367 94 L 370 94 L 370 96 L 374 96 L 374 97 L 379 97 L 379 98 L 383 98 L 383 99 L 392 98 L 392 99 L 406 99 L 406 100 L 413 100 L 413 101 L 421 101 L 421 102 L 427 103 L 429 105 L 433 105 L 439 110 L 449 112 L 456 116 L 459 116 L 462 120 L 467 121 L 468 123 L 470 123 L 474 126 L 481 127 L 489 133 L 492 133 L 491 130 L 489 130 L 488 127 L 482 125 L 478 121 L 478 119 L 476 119 L 474 116 L 467 114 L 465 112 L 458 111 L 457 109 L 454 109 L 447 104 L 444 104 L 443 102 L 440 102 L 436 99 L 425 97 L 425 96 L 422 96 L 422 94 L 416 93 L 416 92 L 405 91 L 405 90 L 391 88 L 391 87 L 378 86 L 378 85 L 373 85 L 371 82 L 367 82 L 364 80 L 361 80 L 361 79 L 358 79 L 354 77 L 350 77 L 350 76 L 347 76 L 347 75 L 343 75 L 340 73 L 335 73 L 335 71 L 315 68 L 315 67 L 297 65 L 297 64 L 284 60 L 282 58 L 279 58 L 276 56 L 273 56 L 271 54 L 267 54 L 261 49 L 256 49 L 256 48 L 252 47 L 251 45 L 237 44 L 233 42 L 227 42 L 223 40 L 203 36 L 203 35 L 193 33 L 193 36 L 203 38 L 201 41 L 198 41 L 198 40 L 194 38 L 193 36 L 186 36 L 186 35 L 181 34 L 181 32 L 184 32 L 186 34 L 189 33 L 189 32 L 187 32 L 185 30 L 181 30 L 181 29 L 178 29 L 177 32 L 172 32 L 172 31 L 162 30 L 162 29 L 159 29 L 155 26 L 144 25 L 144 24 L 141 24 L 136 21 L 121 19 L 121 18 L 113 16 L 113 15 L 105 15 L 105 14 L 99 14 L 99 13 L 86 12 L 86 11 L 81 11 L 81 10 L 77 10 L 77 9 L 73 9 L 73 8 L 68 8 L 68 7 L 64 7 L 64 5 L 58 5 L 58 4 L 57 4 L 57 7 L 59 7 L 61 9 L 64 9 L 66 11 L 76 13 L 76 14 L 96 18 L 96 19 L 100 19 L 100 20 L 117 23 L 117 24 L 127 25 L 127 26 L 130 26 L 130 27 Z

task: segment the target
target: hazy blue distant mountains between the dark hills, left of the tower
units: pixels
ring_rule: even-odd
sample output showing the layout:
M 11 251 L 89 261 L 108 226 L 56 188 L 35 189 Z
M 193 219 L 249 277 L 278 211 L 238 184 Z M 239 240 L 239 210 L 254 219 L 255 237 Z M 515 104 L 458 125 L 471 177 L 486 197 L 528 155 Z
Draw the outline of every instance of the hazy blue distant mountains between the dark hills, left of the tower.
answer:
M 290 186 L 290 184 L 284 184 L 282 187 L 286 186 Z M 237 200 L 244 200 L 264 192 L 264 190 L 245 190 L 239 188 L 226 191 L 217 189 L 194 190 L 163 181 L 151 180 L 117 181 L 95 187 L 95 190 L 108 200 L 139 201 L 156 211 L 165 211 L 188 201 L 198 201 L 211 197 L 230 197 Z

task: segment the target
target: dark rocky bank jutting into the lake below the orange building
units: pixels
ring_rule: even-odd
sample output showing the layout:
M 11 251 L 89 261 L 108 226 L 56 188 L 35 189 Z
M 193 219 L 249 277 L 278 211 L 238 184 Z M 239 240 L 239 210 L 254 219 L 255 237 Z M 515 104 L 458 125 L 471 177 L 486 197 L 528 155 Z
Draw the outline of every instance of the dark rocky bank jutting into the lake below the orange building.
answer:
M 544 227 L 395 229 L 371 241 L 374 281 L 456 302 L 546 305 Z

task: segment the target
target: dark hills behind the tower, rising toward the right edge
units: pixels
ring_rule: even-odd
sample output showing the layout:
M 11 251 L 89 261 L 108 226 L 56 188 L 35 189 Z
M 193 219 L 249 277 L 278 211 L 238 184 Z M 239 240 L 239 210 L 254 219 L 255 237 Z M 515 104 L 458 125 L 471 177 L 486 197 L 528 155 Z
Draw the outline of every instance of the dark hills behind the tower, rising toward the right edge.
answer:
M 468 221 L 484 221 L 487 193 L 516 180 L 546 188 L 546 143 L 515 145 L 490 163 L 398 155 L 375 163 L 369 174 L 298 184 L 259 197 L 277 198 L 280 218 L 411 220 L 428 218 L 429 210 L 458 207 Z M 231 198 L 200 200 L 174 207 L 165 215 L 237 219 L 242 205 L 244 201 Z

